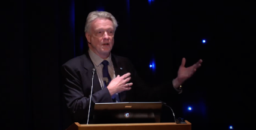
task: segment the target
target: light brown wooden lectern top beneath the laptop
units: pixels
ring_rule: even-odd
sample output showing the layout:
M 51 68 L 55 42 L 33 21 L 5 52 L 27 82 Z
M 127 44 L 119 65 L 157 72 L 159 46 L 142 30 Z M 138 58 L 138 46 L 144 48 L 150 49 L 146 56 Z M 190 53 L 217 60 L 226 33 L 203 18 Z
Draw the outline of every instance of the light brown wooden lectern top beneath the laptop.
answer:
M 191 123 L 113 123 L 113 124 L 80 124 L 73 123 L 66 130 L 161 130 L 161 129 L 172 129 L 172 130 L 191 130 Z

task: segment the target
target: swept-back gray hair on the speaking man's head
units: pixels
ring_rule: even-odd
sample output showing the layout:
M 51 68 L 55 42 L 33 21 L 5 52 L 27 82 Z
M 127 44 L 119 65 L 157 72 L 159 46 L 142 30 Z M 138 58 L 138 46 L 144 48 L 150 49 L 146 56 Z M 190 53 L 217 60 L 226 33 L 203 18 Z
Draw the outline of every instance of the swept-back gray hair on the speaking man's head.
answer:
M 114 24 L 114 31 L 116 30 L 116 28 L 118 26 L 117 20 L 115 20 L 115 17 L 112 14 L 110 14 L 109 12 L 106 12 L 106 11 L 93 11 L 93 12 L 90 12 L 89 15 L 87 16 L 86 27 L 84 27 L 84 32 L 85 33 L 89 33 L 91 23 L 96 18 L 106 18 L 108 20 L 111 20 L 112 23 Z

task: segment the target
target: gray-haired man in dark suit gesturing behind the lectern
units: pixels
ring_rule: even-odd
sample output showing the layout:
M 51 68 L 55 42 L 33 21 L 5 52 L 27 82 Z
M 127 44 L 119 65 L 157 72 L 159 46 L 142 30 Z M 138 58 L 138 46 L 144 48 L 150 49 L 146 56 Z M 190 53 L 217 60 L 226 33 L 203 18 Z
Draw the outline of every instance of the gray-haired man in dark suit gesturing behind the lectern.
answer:
M 108 102 L 150 102 L 159 100 L 161 92 L 181 93 L 181 84 L 190 78 L 202 63 L 200 60 L 185 68 L 184 58 L 178 70 L 178 77 L 169 87 L 147 89 L 147 85 L 141 81 L 130 61 L 111 53 L 117 26 L 117 21 L 109 12 L 90 12 L 85 27 L 88 52 L 62 66 L 63 93 L 74 122 L 87 122 L 92 84 L 92 105 Z M 93 68 L 96 69 L 96 74 L 92 81 Z M 91 112 L 93 113 L 93 109 Z M 93 115 L 92 113 L 90 115 Z

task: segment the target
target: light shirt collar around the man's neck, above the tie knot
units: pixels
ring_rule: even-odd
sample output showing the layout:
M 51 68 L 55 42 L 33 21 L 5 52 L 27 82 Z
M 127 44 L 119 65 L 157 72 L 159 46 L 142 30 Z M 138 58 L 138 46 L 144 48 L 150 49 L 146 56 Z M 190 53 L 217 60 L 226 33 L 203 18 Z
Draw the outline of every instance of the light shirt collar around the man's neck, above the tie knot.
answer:
M 98 56 L 95 52 L 93 52 L 91 49 L 88 50 L 89 56 L 92 59 L 92 62 L 96 65 L 99 66 L 104 59 L 100 58 L 100 56 Z M 112 66 L 112 60 L 111 60 L 111 53 L 108 56 L 108 58 L 105 59 L 106 61 L 108 61 L 109 66 Z

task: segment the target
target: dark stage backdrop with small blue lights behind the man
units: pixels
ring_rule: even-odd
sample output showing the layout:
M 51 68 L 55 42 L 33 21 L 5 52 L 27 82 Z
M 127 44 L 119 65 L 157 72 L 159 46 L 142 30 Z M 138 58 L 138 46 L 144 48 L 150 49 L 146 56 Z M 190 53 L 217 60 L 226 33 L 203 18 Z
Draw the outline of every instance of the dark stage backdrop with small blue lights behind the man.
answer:
M 60 66 L 87 49 L 84 24 L 96 9 L 117 18 L 112 53 L 129 58 L 149 88 L 176 77 L 183 57 L 186 66 L 203 59 L 183 93 L 164 99 L 176 117 L 190 121 L 193 129 L 241 129 L 255 122 L 252 2 L 69 0 L 9 5 L 3 5 L 6 42 L 1 44 L 1 118 L 6 129 L 71 125 L 62 101 Z M 149 67 L 152 61 L 155 70 Z

